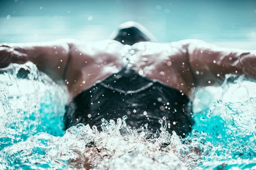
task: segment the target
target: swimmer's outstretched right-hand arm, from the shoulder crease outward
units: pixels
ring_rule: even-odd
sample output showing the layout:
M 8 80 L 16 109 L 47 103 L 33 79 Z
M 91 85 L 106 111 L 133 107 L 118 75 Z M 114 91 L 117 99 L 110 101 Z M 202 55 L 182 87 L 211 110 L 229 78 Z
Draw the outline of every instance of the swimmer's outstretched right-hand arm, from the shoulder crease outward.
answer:
M 186 40 L 189 62 L 200 86 L 220 85 L 225 74 L 256 79 L 256 51 L 221 48 L 201 40 Z

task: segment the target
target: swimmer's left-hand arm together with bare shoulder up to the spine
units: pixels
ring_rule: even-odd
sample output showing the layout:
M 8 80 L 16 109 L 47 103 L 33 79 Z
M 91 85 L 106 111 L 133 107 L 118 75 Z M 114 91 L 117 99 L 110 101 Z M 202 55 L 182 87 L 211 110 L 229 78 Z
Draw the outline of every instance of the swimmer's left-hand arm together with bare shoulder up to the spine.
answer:
M 27 61 L 53 80 L 64 80 L 74 96 L 119 68 L 120 42 L 83 42 L 61 39 L 50 42 L 0 44 L 0 68 Z M 70 59 L 69 59 L 70 58 Z M 70 61 L 68 61 L 70 60 Z M 66 75 L 64 73 L 66 72 Z M 85 83 L 82 83 L 85 82 Z

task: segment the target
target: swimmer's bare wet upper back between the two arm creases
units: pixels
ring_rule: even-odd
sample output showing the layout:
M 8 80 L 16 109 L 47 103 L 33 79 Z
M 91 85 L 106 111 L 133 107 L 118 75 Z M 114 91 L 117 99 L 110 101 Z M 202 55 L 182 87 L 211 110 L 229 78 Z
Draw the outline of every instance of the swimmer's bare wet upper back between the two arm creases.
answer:
M 188 59 L 182 46 L 155 42 L 138 42 L 129 46 L 104 40 L 75 44 L 70 49 L 65 76 L 70 100 L 95 82 L 119 72 L 124 59 L 130 59 L 134 70 L 145 77 L 163 82 L 184 94 L 189 95 L 193 88 Z

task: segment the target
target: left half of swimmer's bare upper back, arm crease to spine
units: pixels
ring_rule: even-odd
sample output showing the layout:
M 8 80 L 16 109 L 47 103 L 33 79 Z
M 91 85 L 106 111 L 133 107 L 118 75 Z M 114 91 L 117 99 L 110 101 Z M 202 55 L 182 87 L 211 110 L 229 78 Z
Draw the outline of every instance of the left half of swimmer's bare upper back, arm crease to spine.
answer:
M 115 40 L 73 45 L 65 76 L 70 96 L 76 96 L 95 82 L 117 73 L 122 67 L 122 47 Z

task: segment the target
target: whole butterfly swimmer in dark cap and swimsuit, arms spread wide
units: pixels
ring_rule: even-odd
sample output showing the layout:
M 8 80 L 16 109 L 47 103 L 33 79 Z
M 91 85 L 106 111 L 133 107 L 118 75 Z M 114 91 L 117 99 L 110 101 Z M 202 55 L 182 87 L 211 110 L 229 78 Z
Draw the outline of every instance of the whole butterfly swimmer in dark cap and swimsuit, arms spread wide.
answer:
M 138 23 L 128 22 L 112 40 L 1 44 L 0 67 L 27 61 L 69 91 L 65 128 L 127 115 L 130 126 L 160 127 L 185 136 L 191 131 L 192 90 L 220 85 L 226 74 L 256 78 L 256 51 L 220 48 L 201 40 L 158 43 Z M 165 119 L 165 118 L 164 118 Z

